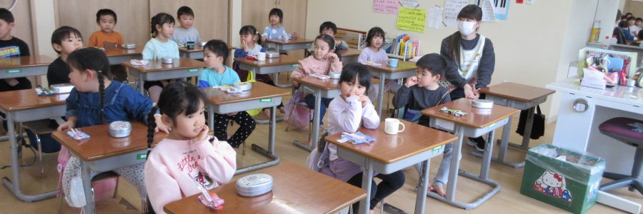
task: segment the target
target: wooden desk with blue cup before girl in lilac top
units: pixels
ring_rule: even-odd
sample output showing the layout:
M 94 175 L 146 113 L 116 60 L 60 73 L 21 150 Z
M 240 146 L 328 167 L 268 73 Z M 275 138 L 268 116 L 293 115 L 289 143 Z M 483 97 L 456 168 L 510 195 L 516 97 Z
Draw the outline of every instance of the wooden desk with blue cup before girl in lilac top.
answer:
M 387 66 L 386 63 L 381 66 L 372 66 L 367 65 L 369 71 L 371 71 L 372 76 L 378 76 L 382 82 L 379 83 L 379 91 L 377 92 L 377 115 L 382 115 L 382 103 L 384 101 L 384 80 L 392 79 L 396 80 L 399 78 L 407 78 L 409 76 L 417 75 L 417 66 L 415 63 L 409 61 L 399 61 L 397 63 L 397 68 L 392 68 Z M 388 102 L 388 101 L 387 101 Z

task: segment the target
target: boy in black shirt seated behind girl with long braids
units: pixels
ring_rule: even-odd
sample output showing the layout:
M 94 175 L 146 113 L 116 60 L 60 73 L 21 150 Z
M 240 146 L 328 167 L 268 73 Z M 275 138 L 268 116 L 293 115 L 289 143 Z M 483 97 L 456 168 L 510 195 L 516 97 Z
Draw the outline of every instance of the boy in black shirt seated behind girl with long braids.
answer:
M 61 26 L 51 34 L 51 46 L 60 54 L 47 66 L 47 82 L 54 84 L 69 83 L 69 65 L 67 56 L 83 47 L 83 36 L 80 31 L 70 26 Z

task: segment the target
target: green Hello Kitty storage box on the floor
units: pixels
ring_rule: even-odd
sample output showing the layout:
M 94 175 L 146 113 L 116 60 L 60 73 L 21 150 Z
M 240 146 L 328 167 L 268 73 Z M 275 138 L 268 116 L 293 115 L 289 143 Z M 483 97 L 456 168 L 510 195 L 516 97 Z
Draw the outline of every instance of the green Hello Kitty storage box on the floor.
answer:
M 572 213 L 585 213 L 596 203 L 604 169 L 602 158 L 544 143 L 527 153 L 520 193 Z

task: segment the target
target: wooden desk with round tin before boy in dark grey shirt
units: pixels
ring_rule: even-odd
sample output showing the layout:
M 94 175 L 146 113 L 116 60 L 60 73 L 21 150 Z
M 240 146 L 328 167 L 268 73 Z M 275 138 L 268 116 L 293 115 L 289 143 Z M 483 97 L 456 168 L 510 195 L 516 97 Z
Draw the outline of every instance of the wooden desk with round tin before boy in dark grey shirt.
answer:
M 482 169 L 480 175 L 474 175 L 459 168 L 460 157 L 462 156 L 462 142 L 464 137 L 479 137 L 487 133 L 487 139 L 494 138 L 494 130 L 507 124 L 509 117 L 518 113 L 517 109 L 507 108 L 504 106 L 494 105 L 493 108 L 474 108 L 471 106 L 471 99 L 460 98 L 449 103 L 433 106 L 422 110 L 422 115 L 429 116 L 431 121 L 430 125 L 434 128 L 439 128 L 444 131 L 451 131 L 458 136 L 458 141 L 453 145 L 453 156 L 451 158 L 451 168 L 449 168 L 449 182 L 447 184 L 447 197 L 444 198 L 437 193 L 429 192 L 429 196 L 441 200 L 444 203 L 470 210 L 477 208 L 487 199 L 499 192 L 500 184 L 494 180 L 489 179 L 489 165 L 491 163 L 491 156 L 493 153 L 493 145 L 491 141 L 487 140 L 484 149 L 484 156 L 482 158 Z M 449 113 L 440 112 L 440 108 L 447 107 L 464 111 L 464 116 L 453 116 Z M 493 189 L 477 199 L 473 203 L 462 203 L 455 200 L 455 190 L 458 183 L 458 174 L 472 180 L 477 180 L 481 183 L 490 185 Z

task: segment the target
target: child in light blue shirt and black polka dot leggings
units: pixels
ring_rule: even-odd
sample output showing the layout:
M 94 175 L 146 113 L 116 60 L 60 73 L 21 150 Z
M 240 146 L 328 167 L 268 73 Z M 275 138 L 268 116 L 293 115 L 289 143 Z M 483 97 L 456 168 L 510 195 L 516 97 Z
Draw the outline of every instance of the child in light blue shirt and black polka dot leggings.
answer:
M 203 46 L 203 62 L 206 68 L 199 76 L 199 88 L 212 86 L 229 86 L 239 83 L 239 75 L 224 62 L 228 58 L 228 45 L 221 40 L 210 40 Z M 211 112 L 212 113 L 212 112 Z M 239 123 L 239 129 L 228 139 L 228 121 L 234 120 Z M 214 136 L 218 139 L 228 141 L 230 146 L 239 148 L 241 143 L 246 141 L 256 126 L 256 123 L 246 111 L 239 111 L 228 114 L 214 113 Z

